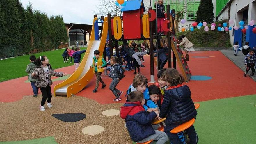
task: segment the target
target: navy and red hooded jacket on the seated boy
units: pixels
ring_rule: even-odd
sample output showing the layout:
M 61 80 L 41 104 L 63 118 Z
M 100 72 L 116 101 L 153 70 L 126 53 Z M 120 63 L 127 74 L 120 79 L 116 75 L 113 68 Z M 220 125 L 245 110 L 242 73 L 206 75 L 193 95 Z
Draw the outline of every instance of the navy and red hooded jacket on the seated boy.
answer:
M 147 114 L 140 101 L 126 102 L 121 106 L 120 117 L 125 119 L 129 135 L 135 142 L 155 134 L 151 122 L 156 116 L 154 111 Z

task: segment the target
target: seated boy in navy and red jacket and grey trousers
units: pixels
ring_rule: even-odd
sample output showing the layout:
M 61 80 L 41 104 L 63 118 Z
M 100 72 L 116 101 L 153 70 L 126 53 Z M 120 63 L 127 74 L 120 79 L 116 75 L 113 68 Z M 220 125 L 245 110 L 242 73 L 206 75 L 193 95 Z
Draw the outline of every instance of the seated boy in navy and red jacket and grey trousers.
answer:
M 131 92 L 128 95 L 129 102 L 121 106 L 120 117 L 125 119 L 125 125 L 131 139 L 138 143 L 144 143 L 149 140 L 157 141 L 156 144 L 163 144 L 168 141 L 168 136 L 158 130 L 154 130 L 151 122 L 155 119 L 158 111 L 147 113 L 143 105 L 145 99 L 139 91 Z

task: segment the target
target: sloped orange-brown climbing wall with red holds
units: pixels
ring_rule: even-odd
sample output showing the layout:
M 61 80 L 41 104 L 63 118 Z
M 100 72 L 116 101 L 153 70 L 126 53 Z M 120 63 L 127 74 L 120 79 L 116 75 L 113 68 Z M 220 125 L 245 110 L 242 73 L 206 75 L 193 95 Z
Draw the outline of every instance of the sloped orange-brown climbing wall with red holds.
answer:
M 187 61 L 185 61 L 185 58 L 182 53 L 182 49 L 177 47 L 177 38 L 176 36 L 171 36 L 171 46 L 173 49 L 173 53 L 176 56 L 176 62 L 179 64 L 180 70 L 182 72 L 182 75 L 186 82 L 189 82 L 191 78 L 191 71 L 189 70 L 189 66 Z

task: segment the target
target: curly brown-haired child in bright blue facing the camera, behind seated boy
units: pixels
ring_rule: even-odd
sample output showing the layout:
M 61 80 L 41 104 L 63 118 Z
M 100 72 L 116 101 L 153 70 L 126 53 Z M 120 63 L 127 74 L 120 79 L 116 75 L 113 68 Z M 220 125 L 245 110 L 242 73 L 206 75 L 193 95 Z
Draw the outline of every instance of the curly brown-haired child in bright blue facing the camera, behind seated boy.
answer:
M 140 91 L 144 95 L 145 100 L 150 100 L 148 88 L 147 88 L 147 78 L 142 74 L 136 74 L 132 81 L 132 84 L 129 86 L 126 95 L 133 91 Z M 128 100 L 128 99 L 127 99 Z M 144 109 L 148 112 L 154 111 L 157 106 L 154 102 L 147 103 L 147 106 L 143 106 Z

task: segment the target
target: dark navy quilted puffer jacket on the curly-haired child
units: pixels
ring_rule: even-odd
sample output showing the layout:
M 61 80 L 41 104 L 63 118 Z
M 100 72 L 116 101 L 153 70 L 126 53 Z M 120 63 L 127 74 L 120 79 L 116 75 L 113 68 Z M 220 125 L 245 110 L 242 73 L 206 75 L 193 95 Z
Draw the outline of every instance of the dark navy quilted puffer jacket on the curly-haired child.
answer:
M 172 125 L 179 125 L 195 118 L 197 115 L 191 92 L 187 85 L 177 85 L 164 91 L 164 99 L 159 117 L 165 120 L 165 131 L 171 130 Z

